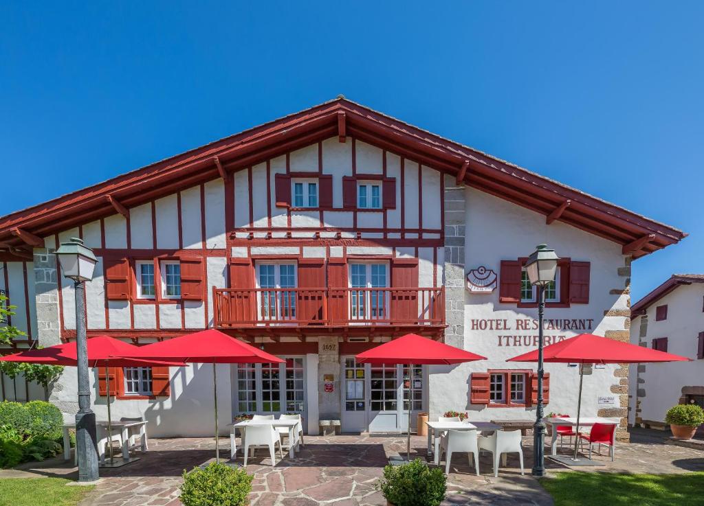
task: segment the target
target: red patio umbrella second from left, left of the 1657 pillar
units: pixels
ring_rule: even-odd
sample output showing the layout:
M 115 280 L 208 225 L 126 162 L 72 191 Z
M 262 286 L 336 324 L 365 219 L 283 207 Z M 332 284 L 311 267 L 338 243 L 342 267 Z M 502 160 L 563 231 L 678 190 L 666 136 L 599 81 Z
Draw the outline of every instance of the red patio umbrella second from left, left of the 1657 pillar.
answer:
M 218 452 L 218 383 L 215 378 L 216 363 L 284 363 L 251 344 L 241 342 L 220 330 L 208 329 L 194 334 L 175 337 L 162 342 L 147 344 L 134 350 L 132 358 L 153 360 L 178 360 L 189 363 L 213 364 L 213 398 L 215 404 L 215 462 L 220 462 Z

